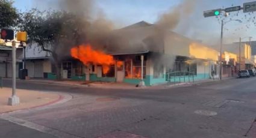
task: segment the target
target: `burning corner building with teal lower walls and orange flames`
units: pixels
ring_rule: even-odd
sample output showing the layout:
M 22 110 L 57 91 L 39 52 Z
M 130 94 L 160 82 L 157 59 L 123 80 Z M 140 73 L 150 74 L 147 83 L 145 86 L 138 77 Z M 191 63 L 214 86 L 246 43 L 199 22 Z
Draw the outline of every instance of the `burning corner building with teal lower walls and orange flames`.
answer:
M 166 73 L 180 71 L 184 81 L 217 77 L 217 51 L 157 25 L 139 22 L 114 30 L 105 46 L 74 46 L 72 61 L 61 64 L 63 78 L 124 82 L 146 86 L 174 81 Z M 183 73 L 183 74 L 182 74 Z M 189 74 L 188 74 L 189 73 Z M 178 80 L 178 79 L 176 79 Z

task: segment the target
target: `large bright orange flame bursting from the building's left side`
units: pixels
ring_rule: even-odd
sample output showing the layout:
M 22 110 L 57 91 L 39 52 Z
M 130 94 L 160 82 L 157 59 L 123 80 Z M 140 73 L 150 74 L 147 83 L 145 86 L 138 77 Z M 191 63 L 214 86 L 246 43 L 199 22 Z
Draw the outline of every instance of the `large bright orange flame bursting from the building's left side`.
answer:
M 70 53 L 73 58 L 79 59 L 85 65 L 89 63 L 102 65 L 104 74 L 108 73 L 110 65 L 113 65 L 115 62 L 112 55 L 107 55 L 99 50 L 93 50 L 90 44 L 73 47 Z

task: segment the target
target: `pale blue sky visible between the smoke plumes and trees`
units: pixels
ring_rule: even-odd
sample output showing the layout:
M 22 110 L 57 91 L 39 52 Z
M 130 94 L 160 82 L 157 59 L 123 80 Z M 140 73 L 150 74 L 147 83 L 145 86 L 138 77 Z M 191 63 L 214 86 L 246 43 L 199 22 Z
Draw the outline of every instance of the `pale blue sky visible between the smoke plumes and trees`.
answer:
M 179 25 L 173 31 L 195 40 L 201 40 L 203 43 L 214 45 L 219 43 L 220 40 L 220 22 L 216 17 L 204 18 L 203 11 L 237 5 L 242 6 L 244 2 L 255 0 L 199 1 L 193 13 L 186 18 L 181 17 Z M 161 14 L 172 10 L 181 2 L 182 0 L 95 0 L 95 5 L 97 9 L 104 12 L 107 19 L 116 23 L 116 28 L 121 28 L 142 20 L 155 23 Z M 31 8 L 39 8 L 40 10 L 55 9 L 58 8 L 58 5 L 55 0 L 45 0 L 44 2 L 39 0 L 14 0 L 14 7 L 25 11 Z M 242 11 L 238 13 L 238 16 L 236 14 L 237 12 L 231 13 L 225 20 L 240 19 L 242 23 L 234 21 L 225 24 L 223 29 L 224 43 L 233 43 L 239 41 L 239 37 L 248 36 L 256 40 L 256 27 L 254 26 L 254 21 L 252 22 L 254 14 L 249 15 Z M 250 20 L 249 17 L 251 17 Z M 247 28 L 246 26 L 249 27 Z

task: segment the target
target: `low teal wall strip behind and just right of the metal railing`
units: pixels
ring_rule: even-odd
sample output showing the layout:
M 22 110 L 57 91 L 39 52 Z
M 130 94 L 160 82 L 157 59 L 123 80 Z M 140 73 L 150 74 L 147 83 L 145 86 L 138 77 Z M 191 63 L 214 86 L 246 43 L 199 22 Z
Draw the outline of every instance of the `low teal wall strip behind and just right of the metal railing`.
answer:
M 201 73 L 194 76 L 194 81 L 209 79 L 208 73 Z M 171 77 L 170 82 L 193 82 L 192 76 Z

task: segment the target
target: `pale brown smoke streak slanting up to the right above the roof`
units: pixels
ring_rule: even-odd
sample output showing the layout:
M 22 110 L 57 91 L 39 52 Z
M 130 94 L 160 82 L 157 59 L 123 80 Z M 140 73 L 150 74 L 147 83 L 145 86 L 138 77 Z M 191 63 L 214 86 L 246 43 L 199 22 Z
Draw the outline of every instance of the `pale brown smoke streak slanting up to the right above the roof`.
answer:
M 186 19 L 193 13 L 197 2 L 198 0 L 184 0 L 181 4 L 161 14 L 156 24 L 166 31 L 175 29 L 179 25 L 181 18 Z

